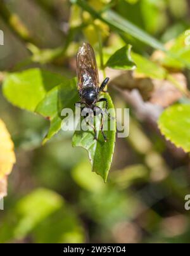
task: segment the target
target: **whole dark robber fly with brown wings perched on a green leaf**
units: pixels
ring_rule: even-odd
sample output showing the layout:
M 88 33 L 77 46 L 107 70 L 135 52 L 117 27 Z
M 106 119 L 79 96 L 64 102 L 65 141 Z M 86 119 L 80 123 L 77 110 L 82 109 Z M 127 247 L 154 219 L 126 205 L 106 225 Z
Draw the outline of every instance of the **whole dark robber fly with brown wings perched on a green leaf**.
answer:
M 94 115 L 99 115 L 101 113 L 101 133 L 105 141 L 107 139 L 105 132 L 103 131 L 104 112 L 103 110 L 101 110 L 101 108 L 99 108 L 99 106 L 96 106 L 96 103 L 105 101 L 106 110 L 108 109 L 107 99 L 99 98 L 100 93 L 105 92 L 104 89 L 106 84 L 108 84 L 108 81 L 109 77 L 106 77 L 106 79 L 102 82 L 101 86 L 99 86 L 98 68 L 96 64 L 94 50 L 92 49 L 92 46 L 90 44 L 84 42 L 82 46 L 80 46 L 79 51 L 77 53 L 77 87 L 81 99 L 81 101 L 77 103 L 84 105 L 81 108 L 81 112 L 82 110 L 87 108 L 92 110 Z M 98 138 L 96 127 L 94 127 L 94 125 L 90 126 L 94 129 L 94 139 L 97 140 Z

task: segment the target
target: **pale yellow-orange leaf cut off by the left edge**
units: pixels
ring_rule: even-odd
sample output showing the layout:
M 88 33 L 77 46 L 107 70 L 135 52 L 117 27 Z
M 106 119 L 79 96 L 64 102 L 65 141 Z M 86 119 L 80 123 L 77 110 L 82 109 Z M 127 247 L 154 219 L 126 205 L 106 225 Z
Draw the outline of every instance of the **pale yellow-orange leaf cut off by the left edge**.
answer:
M 16 162 L 14 144 L 11 136 L 0 119 L 0 198 L 7 194 L 7 176 Z

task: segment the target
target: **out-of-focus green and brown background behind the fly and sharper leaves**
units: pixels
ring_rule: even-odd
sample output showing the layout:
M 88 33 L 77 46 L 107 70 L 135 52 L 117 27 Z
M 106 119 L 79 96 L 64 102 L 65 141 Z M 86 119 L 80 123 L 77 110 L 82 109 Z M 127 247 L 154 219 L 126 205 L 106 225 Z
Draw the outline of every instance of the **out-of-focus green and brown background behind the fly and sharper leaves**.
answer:
M 163 43 L 190 27 L 186 0 L 88 2 L 97 10 L 113 8 Z M 98 49 L 94 27 L 86 23 L 89 14 L 83 13 L 80 23 L 79 11 L 66 0 L 1 0 L 1 72 L 43 67 L 74 77 L 81 42 Z M 97 24 L 103 44 L 116 44 L 118 35 Z M 153 53 L 133 37 L 122 37 L 137 53 Z M 38 54 L 39 49 L 46 51 Z M 184 75 L 188 79 L 189 72 Z M 41 146 L 48 120 L 12 106 L 0 92 L 0 118 L 16 152 L 0 211 L 1 243 L 189 243 L 190 212 L 184 208 L 190 194 L 189 155 L 160 134 L 155 120 L 160 107 L 144 103 L 138 91 L 111 86 L 109 91 L 115 106 L 130 108 L 130 135 L 117 138 L 106 184 L 91 172 L 87 152 L 72 148 L 70 132 Z

